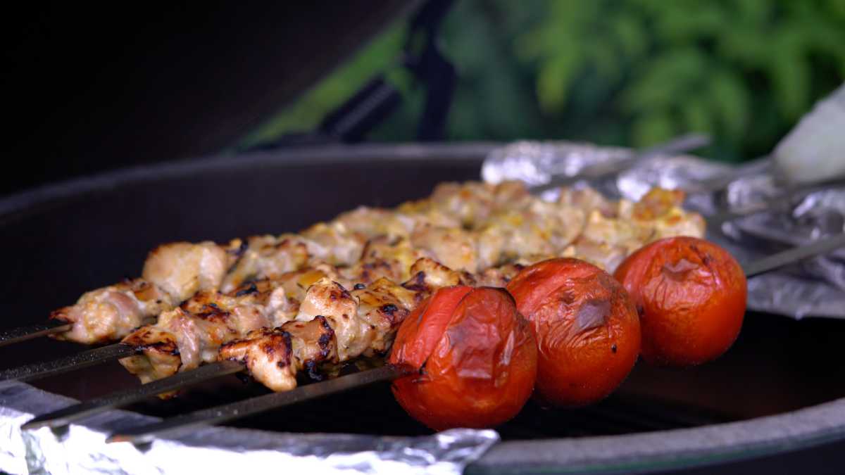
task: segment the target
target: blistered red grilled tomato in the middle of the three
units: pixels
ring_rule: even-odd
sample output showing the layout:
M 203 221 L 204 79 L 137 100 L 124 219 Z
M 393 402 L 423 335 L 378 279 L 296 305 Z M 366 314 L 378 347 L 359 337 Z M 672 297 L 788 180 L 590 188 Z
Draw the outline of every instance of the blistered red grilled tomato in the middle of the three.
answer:
M 630 374 L 640 352 L 640 321 L 624 288 L 579 259 L 550 259 L 508 284 L 537 338 L 535 396 L 544 406 L 602 400 Z

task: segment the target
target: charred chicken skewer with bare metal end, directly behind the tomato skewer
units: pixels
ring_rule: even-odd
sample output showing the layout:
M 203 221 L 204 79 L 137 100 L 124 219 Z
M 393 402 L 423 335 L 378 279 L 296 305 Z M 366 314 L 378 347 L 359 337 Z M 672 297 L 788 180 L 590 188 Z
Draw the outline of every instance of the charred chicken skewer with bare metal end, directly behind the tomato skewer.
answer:
M 355 286 L 352 292 L 347 292 L 336 281 L 321 278 L 308 287 L 295 319 L 276 328 L 251 330 L 241 339 L 226 342 L 220 347 L 215 363 L 151 382 L 142 386 L 141 390 L 90 401 L 81 409 L 60 413 L 59 418 L 69 421 L 79 418 L 80 414 L 95 413 L 116 404 L 137 401 L 145 395 L 175 390 L 243 369 L 272 390 L 292 390 L 297 385 L 298 372 L 307 371 L 313 379 L 320 379 L 321 364 L 336 365 L 361 355 L 384 354 L 390 349 L 398 325 L 412 308 L 439 287 L 458 285 L 466 283 L 467 278 L 472 279 L 472 276 L 455 272 L 427 258 L 419 259 L 411 271 L 413 278 L 401 286 L 381 277 L 369 286 Z M 254 300 L 249 303 L 254 303 Z M 220 319 L 221 313 L 215 314 L 215 319 Z M 145 358 L 148 366 L 154 366 L 154 362 L 161 365 L 158 361 L 161 353 L 157 350 L 152 354 L 146 354 L 144 350 L 144 354 L 126 358 L 122 363 L 139 365 L 131 360 Z M 167 352 L 176 353 L 173 350 L 173 347 L 166 348 Z M 172 356 L 178 358 L 178 354 Z M 174 366 L 163 365 L 167 369 Z M 142 380 L 150 378 L 150 374 L 142 375 Z M 45 420 L 30 421 L 27 427 L 39 427 Z

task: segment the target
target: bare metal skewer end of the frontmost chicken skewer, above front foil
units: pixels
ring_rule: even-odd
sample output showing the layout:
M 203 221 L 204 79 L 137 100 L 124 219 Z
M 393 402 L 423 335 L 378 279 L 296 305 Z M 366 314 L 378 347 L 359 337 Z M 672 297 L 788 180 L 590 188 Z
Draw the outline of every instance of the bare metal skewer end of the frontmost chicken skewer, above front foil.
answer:
M 33 418 L 30 422 L 20 426 L 20 429 L 40 429 L 42 427 L 62 427 L 75 420 L 93 416 L 114 407 L 123 407 L 133 402 L 142 401 L 168 391 L 182 389 L 199 384 L 207 379 L 219 378 L 226 374 L 243 371 L 243 363 L 236 361 L 218 361 L 205 364 L 197 369 L 177 373 L 167 378 L 157 379 L 145 385 L 128 390 L 120 390 L 110 395 L 98 397 L 90 401 L 80 402 L 73 406 L 64 407 Z

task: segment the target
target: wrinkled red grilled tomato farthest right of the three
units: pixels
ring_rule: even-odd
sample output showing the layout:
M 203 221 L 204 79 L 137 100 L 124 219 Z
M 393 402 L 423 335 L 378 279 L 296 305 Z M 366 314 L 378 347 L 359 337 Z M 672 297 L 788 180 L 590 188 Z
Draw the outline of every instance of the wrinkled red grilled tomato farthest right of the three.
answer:
M 706 363 L 739 335 L 748 287 L 742 267 L 717 244 L 661 239 L 631 254 L 614 276 L 640 311 L 646 363 Z

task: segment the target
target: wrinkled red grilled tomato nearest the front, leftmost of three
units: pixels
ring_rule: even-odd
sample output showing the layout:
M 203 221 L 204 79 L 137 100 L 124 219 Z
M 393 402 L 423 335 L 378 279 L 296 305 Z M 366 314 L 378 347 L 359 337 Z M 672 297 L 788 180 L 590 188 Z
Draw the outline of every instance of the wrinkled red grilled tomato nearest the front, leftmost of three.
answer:
M 504 423 L 525 405 L 537 376 L 528 322 L 507 292 L 489 287 L 435 292 L 403 322 L 389 361 L 413 371 L 394 381 L 396 401 L 434 430 Z

